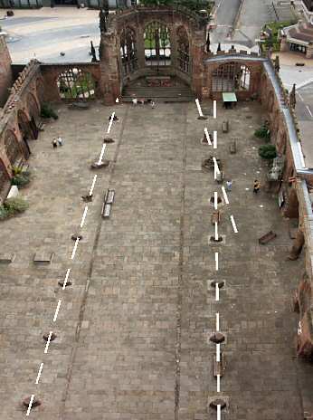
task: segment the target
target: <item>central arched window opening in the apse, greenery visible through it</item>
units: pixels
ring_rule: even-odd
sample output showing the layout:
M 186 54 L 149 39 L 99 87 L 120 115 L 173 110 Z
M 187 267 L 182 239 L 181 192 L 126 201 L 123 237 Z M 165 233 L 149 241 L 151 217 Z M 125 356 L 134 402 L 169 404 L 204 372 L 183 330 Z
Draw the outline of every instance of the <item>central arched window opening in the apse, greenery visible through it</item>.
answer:
M 148 66 L 166 66 L 171 64 L 170 33 L 166 24 L 152 22 L 144 33 L 145 57 Z

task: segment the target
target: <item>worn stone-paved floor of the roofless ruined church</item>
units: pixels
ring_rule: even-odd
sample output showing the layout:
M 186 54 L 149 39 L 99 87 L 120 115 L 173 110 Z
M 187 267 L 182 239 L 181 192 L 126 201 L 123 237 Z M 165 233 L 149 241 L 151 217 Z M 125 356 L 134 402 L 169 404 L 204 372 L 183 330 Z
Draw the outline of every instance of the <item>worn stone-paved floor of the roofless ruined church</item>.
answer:
M 211 104 L 204 110 L 212 112 Z M 111 111 L 97 103 L 88 111 L 60 108 L 60 119 L 31 143 L 33 183 L 23 192 L 29 210 L 0 226 L 0 252 L 16 253 L 0 267 L 0 418 L 23 418 L 21 401 L 32 394 L 43 403 L 29 417 L 37 420 L 216 418 L 207 406 L 218 395 L 209 337 L 219 312 L 227 364 L 220 394 L 229 400 L 223 418 L 300 420 L 297 316 L 289 301 L 303 262 L 285 262 L 291 240 L 277 198 L 251 192 L 266 171 L 252 138 L 260 106 L 218 108 L 218 119 L 207 121 L 196 119 L 193 102 L 155 110 L 119 106 L 111 131 L 116 142 L 106 149 L 111 167 L 98 172 L 71 260 L 81 196 L 94 176 L 89 164 L 100 154 Z M 223 134 L 226 118 L 231 129 Z M 213 152 L 199 141 L 205 124 L 218 129 L 216 156 L 233 180 L 219 246 L 208 241 L 209 199 L 222 190 L 213 173 L 201 171 Z M 52 149 L 58 134 L 64 146 Z M 237 138 L 236 155 L 229 154 L 231 138 Z M 102 220 L 108 187 L 116 201 Z M 270 229 L 277 239 L 260 246 L 258 238 Z M 55 253 L 51 265 L 33 264 L 39 250 Z M 58 281 L 69 268 L 73 284 L 62 291 Z M 220 301 L 214 279 L 225 281 Z M 51 330 L 57 338 L 44 354 L 43 334 Z

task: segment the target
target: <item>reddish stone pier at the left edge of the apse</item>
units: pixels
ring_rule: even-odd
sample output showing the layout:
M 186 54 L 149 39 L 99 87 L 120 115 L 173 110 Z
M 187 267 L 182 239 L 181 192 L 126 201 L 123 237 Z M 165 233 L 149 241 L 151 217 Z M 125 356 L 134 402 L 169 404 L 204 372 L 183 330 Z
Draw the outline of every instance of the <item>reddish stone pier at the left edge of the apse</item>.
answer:
M 116 32 L 101 33 L 100 87 L 105 105 L 113 105 L 121 95 L 119 49 Z

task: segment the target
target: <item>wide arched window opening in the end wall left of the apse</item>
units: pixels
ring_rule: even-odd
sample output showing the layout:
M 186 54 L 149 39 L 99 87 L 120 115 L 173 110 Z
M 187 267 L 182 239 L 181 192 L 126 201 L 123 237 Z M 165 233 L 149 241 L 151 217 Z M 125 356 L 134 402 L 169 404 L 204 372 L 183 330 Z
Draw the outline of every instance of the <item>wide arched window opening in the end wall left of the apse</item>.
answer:
M 72 68 L 60 73 L 57 79 L 62 99 L 92 99 L 95 97 L 95 82 L 90 72 Z

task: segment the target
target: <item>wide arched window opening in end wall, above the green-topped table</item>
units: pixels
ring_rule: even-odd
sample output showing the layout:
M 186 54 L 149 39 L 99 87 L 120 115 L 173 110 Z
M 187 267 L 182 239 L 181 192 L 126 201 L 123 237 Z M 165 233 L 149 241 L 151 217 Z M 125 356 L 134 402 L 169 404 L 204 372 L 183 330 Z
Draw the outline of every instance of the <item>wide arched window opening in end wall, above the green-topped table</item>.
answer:
M 239 62 L 226 62 L 212 75 L 212 91 L 249 91 L 250 70 Z

